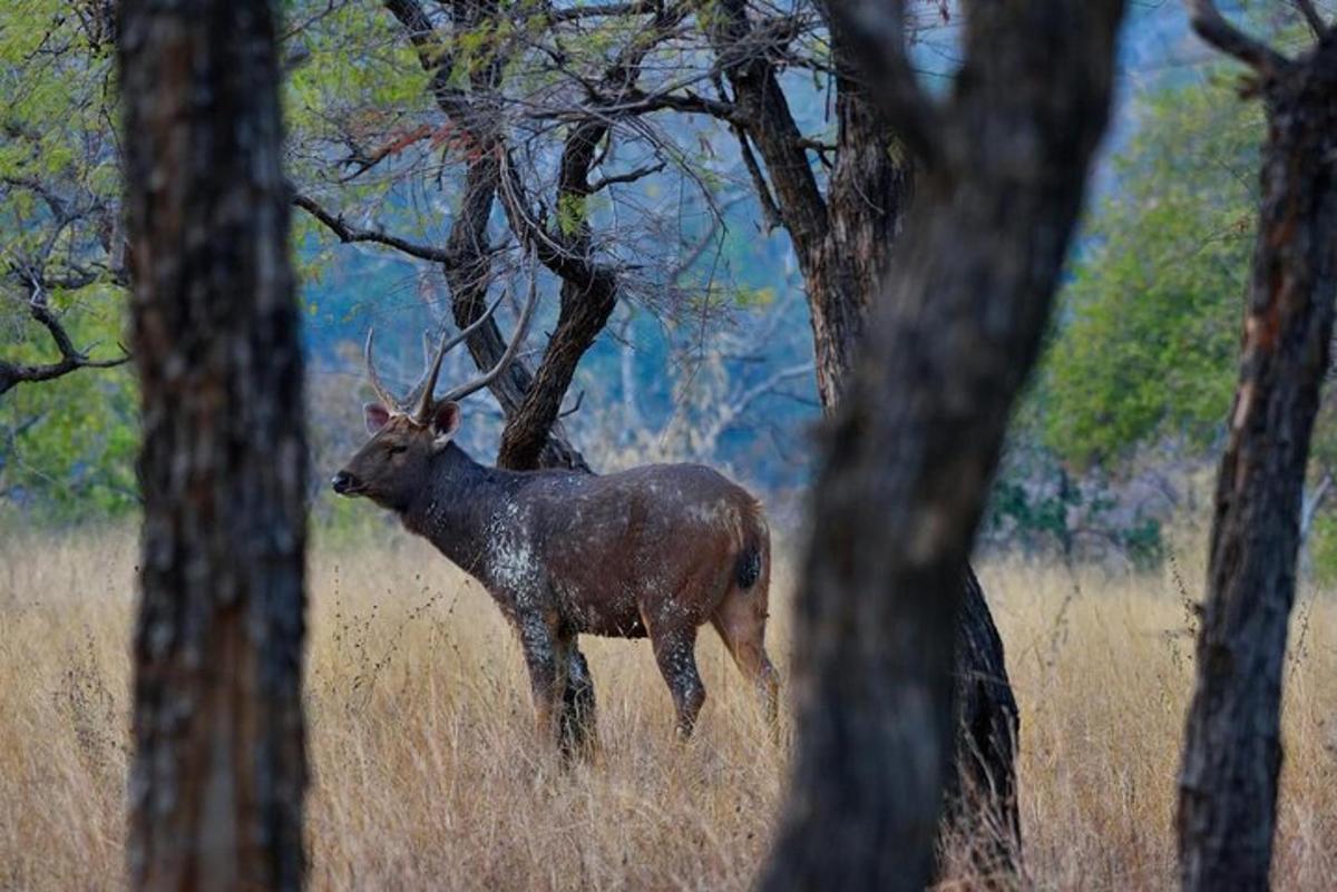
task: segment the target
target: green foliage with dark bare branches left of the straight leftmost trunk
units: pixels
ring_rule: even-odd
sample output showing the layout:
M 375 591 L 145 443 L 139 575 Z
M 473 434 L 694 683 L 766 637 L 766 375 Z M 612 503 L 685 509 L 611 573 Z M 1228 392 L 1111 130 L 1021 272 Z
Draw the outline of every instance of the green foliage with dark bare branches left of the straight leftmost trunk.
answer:
M 0 498 L 135 502 L 110 4 L 0 4 Z M 71 374 L 79 373 L 79 374 Z

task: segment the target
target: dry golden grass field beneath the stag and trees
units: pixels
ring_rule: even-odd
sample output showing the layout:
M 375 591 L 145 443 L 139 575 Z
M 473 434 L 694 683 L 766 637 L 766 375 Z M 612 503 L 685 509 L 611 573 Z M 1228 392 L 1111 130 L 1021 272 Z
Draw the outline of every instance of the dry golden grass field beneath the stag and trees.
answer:
M 134 562 L 127 531 L 0 543 L 0 889 L 124 885 Z M 1023 710 L 1027 888 L 1174 885 L 1197 564 L 1182 581 L 980 568 Z M 602 756 L 564 770 L 533 745 L 519 650 L 477 584 L 400 533 L 310 565 L 313 889 L 749 887 L 786 753 L 713 634 L 686 746 L 644 642 L 587 641 Z M 1302 590 L 1292 640 L 1275 887 L 1332 889 L 1337 601 Z

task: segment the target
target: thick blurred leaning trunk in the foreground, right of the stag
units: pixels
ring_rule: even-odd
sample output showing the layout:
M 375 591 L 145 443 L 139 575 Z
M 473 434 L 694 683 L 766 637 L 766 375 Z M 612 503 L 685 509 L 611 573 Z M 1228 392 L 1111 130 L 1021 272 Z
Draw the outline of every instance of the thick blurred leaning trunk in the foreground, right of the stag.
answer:
M 877 47 L 898 65 L 861 56 L 890 80 L 877 92 L 897 132 L 929 151 L 814 487 L 798 748 L 763 889 L 919 892 L 932 876 L 961 568 L 1104 130 L 1122 7 L 968 4 L 947 104 L 900 47 Z M 882 15 L 862 7 L 857 21 Z

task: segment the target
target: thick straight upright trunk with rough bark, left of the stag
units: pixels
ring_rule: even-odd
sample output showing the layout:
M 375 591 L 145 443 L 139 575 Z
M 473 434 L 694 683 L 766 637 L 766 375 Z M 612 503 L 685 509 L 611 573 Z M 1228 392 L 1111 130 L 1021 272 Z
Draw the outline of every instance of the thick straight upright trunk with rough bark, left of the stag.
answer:
M 306 445 L 266 0 L 126 0 L 144 499 L 130 885 L 299 889 Z

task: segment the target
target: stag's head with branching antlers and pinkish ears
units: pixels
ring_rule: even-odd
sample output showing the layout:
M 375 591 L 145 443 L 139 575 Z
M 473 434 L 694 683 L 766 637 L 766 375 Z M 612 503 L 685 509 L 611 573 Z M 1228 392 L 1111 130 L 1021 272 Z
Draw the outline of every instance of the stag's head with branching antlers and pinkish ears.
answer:
M 515 337 L 496 365 L 480 378 L 455 387 L 440 399 L 435 397 L 445 354 L 481 328 L 507 294 L 503 291 L 481 316 L 453 338 L 441 337 L 436 353 L 429 351 L 422 378 L 402 402 L 390 394 L 376 371 L 376 362 L 372 359 L 376 331 L 366 332 L 364 358 L 377 402 L 366 403 L 362 410 L 372 439 L 330 481 L 336 493 L 349 497 L 365 495 L 382 507 L 402 510 L 422 490 L 433 455 L 445 449 L 460 429 L 460 401 L 496 381 L 524 343 L 537 303 L 537 283 L 533 276 L 529 278 L 529 292 L 520 311 Z

